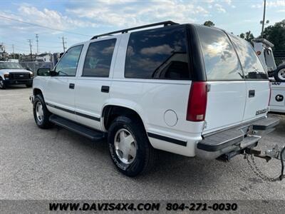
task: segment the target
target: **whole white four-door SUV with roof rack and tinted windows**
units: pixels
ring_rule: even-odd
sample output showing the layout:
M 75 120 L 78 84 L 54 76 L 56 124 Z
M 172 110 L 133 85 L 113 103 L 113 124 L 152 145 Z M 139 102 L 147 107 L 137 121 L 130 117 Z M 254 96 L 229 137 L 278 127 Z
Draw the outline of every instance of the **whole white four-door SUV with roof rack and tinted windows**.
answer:
M 135 176 L 150 168 L 154 148 L 229 160 L 257 146 L 279 123 L 266 117 L 269 93 L 247 41 L 166 21 L 72 46 L 53 71 L 38 70 L 31 99 L 40 128 L 107 137 L 117 168 Z

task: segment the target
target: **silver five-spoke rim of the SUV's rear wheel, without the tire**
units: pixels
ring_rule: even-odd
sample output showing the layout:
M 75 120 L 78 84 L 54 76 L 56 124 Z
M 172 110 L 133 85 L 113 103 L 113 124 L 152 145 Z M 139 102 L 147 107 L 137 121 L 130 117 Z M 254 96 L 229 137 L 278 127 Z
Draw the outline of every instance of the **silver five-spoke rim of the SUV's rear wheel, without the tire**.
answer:
M 115 134 L 115 153 L 120 161 L 125 164 L 133 163 L 137 155 L 137 142 L 133 135 L 125 128 Z

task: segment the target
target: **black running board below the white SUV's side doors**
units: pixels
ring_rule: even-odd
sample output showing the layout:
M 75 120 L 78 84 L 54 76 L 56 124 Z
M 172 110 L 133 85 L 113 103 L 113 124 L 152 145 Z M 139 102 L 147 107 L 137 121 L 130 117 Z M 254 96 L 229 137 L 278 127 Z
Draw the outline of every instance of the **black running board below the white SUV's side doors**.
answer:
M 105 133 L 103 132 L 96 131 L 94 129 L 88 128 L 73 121 L 69 121 L 68 119 L 56 116 L 54 114 L 50 116 L 49 121 L 58 126 L 66 128 L 69 131 L 73 131 L 75 133 L 80 134 L 81 136 L 89 138 L 91 141 L 102 141 L 105 138 Z

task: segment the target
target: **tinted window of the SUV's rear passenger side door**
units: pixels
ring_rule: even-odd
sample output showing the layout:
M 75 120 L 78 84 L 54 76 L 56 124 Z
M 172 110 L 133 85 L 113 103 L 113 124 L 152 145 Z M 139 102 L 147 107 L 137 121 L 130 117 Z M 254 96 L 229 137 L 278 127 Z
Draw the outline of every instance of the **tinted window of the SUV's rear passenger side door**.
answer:
M 82 76 L 109 76 L 115 41 L 116 39 L 109 39 L 96 41 L 89 45 Z

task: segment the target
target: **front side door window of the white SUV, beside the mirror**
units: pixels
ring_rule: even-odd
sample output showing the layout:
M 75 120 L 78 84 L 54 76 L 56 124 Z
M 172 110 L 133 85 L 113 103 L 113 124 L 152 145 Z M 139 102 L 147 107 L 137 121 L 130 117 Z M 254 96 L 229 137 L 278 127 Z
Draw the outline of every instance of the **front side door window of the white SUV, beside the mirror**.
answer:
M 63 55 L 61 61 L 58 62 L 54 71 L 57 76 L 76 76 L 79 57 L 81 55 L 83 45 L 74 46 Z

